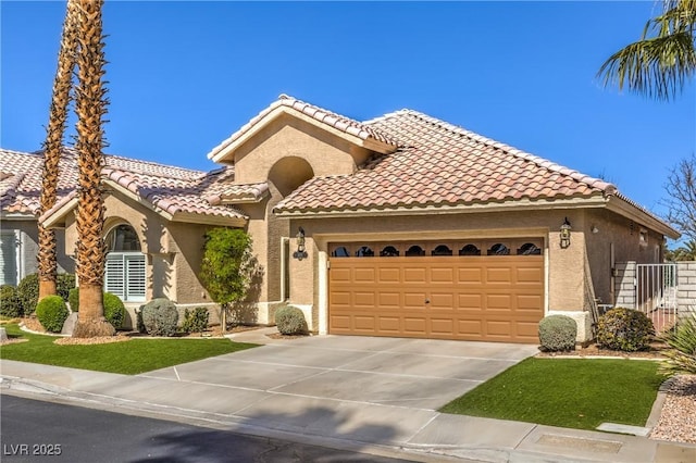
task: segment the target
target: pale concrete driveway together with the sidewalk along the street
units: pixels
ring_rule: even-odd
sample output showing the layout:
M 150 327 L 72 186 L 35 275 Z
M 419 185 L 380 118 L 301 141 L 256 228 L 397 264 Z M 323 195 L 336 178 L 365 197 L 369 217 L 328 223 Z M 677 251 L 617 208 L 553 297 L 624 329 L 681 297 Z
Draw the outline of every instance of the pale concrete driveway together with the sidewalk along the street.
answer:
M 3 360 L 3 393 L 415 461 L 694 462 L 696 446 L 436 410 L 533 346 L 369 337 L 274 340 L 137 376 Z

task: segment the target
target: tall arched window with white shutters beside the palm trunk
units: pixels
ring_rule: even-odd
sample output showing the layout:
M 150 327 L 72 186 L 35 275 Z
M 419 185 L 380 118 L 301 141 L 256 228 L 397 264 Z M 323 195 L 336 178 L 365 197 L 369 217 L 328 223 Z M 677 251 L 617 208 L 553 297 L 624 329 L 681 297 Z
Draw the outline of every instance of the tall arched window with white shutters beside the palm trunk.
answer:
M 108 251 L 104 291 L 125 302 L 145 301 L 146 262 L 136 230 L 127 224 L 116 225 L 107 234 L 104 243 Z

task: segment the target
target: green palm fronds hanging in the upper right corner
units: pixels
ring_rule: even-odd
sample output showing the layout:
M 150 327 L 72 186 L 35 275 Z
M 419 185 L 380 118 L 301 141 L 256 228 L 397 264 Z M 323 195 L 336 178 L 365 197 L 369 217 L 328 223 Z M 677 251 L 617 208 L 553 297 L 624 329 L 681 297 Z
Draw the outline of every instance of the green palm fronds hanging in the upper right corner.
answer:
M 612 54 L 597 76 L 604 85 L 670 100 L 696 73 L 696 0 L 664 0 L 641 40 Z

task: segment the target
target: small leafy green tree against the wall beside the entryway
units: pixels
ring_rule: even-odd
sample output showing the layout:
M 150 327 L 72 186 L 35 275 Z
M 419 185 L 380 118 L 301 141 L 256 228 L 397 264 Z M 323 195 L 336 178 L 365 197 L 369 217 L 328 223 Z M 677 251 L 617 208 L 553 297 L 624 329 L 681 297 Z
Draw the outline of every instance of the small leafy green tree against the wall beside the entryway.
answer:
M 251 237 L 239 228 L 213 228 L 206 234 L 200 279 L 220 304 L 222 331 L 227 329 L 229 306 L 247 296 L 256 272 Z

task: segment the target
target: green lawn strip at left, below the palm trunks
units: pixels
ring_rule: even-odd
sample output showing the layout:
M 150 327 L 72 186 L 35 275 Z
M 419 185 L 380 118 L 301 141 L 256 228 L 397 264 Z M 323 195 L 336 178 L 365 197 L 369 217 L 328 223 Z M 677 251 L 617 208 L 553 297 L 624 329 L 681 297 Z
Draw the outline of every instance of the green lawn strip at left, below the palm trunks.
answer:
M 14 324 L 3 326 L 8 337 L 22 337 L 28 341 L 2 346 L 0 359 L 125 375 L 135 375 L 257 346 L 232 342 L 228 339 L 169 338 L 132 339 L 126 342 L 91 346 L 59 346 L 53 343 L 57 339 L 54 336 L 25 333 Z

